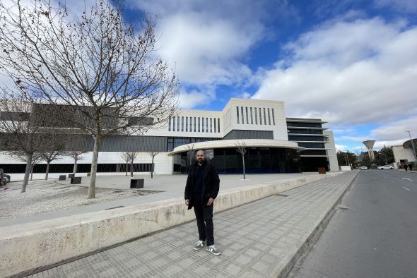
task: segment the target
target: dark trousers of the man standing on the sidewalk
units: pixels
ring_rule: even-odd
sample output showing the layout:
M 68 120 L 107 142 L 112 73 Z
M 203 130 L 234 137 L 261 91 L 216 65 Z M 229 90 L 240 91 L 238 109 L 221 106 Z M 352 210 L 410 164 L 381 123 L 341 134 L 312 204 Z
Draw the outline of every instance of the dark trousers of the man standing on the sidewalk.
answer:
M 194 200 L 195 199 L 198 198 L 194 198 Z M 207 240 L 207 246 L 213 245 L 213 204 L 206 206 L 206 204 L 196 201 L 194 202 L 194 213 L 196 214 L 197 228 L 199 229 L 200 240 Z

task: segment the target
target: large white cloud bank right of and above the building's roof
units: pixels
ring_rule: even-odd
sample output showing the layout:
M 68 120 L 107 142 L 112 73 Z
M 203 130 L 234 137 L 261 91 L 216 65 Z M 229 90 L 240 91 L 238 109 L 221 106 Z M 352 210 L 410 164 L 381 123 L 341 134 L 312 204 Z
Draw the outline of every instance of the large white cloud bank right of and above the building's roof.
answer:
M 288 116 L 346 126 L 417 114 L 416 26 L 380 18 L 324 23 L 285 48 L 288 59 L 259 71 L 253 97 L 283 100 Z

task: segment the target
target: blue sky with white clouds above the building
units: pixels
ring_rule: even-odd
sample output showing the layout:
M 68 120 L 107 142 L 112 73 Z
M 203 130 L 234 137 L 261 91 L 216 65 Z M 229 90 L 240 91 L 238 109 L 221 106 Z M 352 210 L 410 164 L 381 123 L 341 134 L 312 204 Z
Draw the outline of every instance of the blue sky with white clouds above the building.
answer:
M 282 100 L 288 117 L 327 121 L 336 147 L 353 152 L 366 139 L 382 147 L 408 140 L 405 131 L 417 137 L 415 0 L 125 5 L 127 20 L 158 16 L 158 54 L 180 78 L 182 109 L 221 110 L 230 97 Z

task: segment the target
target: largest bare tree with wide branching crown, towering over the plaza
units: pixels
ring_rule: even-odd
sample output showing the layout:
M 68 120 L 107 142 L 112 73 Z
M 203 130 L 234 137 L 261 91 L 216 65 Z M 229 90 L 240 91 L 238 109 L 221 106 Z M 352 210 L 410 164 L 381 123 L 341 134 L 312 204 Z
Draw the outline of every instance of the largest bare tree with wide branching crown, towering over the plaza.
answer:
M 52 1 L 11 2 L 0 4 L 0 66 L 22 92 L 53 104 L 42 109 L 61 127 L 93 137 L 88 198 L 95 198 L 102 138 L 162 126 L 177 109 L 178 80 L 155 56 L 155 23 L 144 18 L 135 30 L 108 0 L 74 18 Z

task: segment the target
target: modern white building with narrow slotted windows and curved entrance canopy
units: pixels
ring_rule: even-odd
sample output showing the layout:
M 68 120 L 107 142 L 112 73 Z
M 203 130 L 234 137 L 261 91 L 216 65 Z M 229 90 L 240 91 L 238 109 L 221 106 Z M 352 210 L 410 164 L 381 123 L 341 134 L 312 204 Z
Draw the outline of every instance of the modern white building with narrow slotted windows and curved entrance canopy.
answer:
M 136 151 L 134 171 L 157 174 L 187 172 L 193 150 L 206 150 L 221 174 L 242 171 L 242 157 L 237 143 L 245 143 L 247 173 L 286 173 L 339 171 L 333 133 L 326 131 L 321 119 L 287 118 L 284 102 L 232 98 L 222 111 L 180 110 L 158 129 L 143 135 L 119 135 L 104 138 L 98 158 L 98 171 L 123 172 L 122 152 Z M 90 171 L 93 139 L 74 136 L 67 150 L 87 151 L 78 162 L 78 171 Z M 149 151 L 159 152 L 151 164 Z M 71 172 L 69 157 L 52 162 L 50 171 Z M 25 164 L 0 152 L 0 168 L 9 173 L 23 173 Z M 37 164 L 35 172 L 45 171 Z

